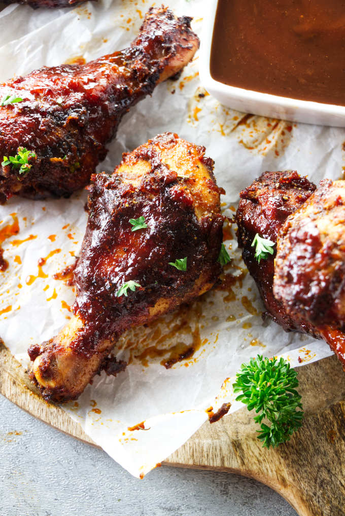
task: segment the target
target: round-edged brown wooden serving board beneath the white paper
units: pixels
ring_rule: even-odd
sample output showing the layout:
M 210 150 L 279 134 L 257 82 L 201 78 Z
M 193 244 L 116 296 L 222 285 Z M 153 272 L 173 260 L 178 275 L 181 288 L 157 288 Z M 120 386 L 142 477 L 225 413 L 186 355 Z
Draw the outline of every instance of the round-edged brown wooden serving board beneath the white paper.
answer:
M 300 516 L 345 514 L 345 373 L 328 357 L 299 368 L 306 418 L 291 441 L 266 450 L 246 409 L 205 423 L 164 464 L 239 473 L 280 493 Z M 40 398 L 0 341 L 0 393 L 59 430 L 95 443 L 59 407 Z

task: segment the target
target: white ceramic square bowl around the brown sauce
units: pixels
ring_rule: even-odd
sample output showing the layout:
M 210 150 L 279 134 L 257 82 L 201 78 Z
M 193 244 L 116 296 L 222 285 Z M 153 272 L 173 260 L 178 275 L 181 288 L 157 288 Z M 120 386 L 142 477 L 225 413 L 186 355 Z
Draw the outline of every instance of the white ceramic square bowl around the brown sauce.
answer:
M 200 46 L 200 80 L 206 90 L 225 106 L 242 112 L 308 124 L 345 127 L 345 106 L 321 104 L 259 93 L 219 83 L 211 77 L 210 57 L 218 0 L 207 0 Z M 344 93 L 345 94 L 345 93 Z

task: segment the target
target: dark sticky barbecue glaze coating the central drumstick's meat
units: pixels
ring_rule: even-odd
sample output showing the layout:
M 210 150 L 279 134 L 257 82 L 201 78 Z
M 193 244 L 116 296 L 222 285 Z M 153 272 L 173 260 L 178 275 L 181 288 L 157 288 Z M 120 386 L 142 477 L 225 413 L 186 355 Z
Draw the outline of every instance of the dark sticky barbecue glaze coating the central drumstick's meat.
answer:
M 156 142 L 164 146 L 164 140 Z M 171 144 L 175 144 L 175 137 L 168 135 L 166 145 Z M 196 158 L 205 159 L 202 148 L 194 149 Z M 190 153 L 194 149 L 191 146 Z M 116 170 L 111 178 L 106 174 L 92 176 L 88 226 L 74 271 L 78 296 L 73 312 L 85 321 L 72 344 L 78 352 L 92 352 L 100 332 L 104 338 L 118 338 L 131 325 L 133 304 L 138 312 L 148 314 L 160 297 L 173 293 L 184 297 L 190 292 L 203 267 L 220 271 L 216 260 L 222 217 L 212 215 L 197 221 L 193 197 L 178 185 L 176 172 L 162 163 L 156 149 L 142 146 L 135 154 L 138 159 L 151 168 L 139 189 L 124 183 Z M 218 195 L 216 185 L 212 186 Z M 140 216 L 148 228 L 133 232 L 129 220 Z M 213 251 L 205 240 L 212 225 L 215 241 L 212 245 L 209 240 L 208 245 Z M 184 257 L 185 272 L 169 265 Z M 117 297 L 119 288 L 130 280 L 140 287 L 128 297 Z

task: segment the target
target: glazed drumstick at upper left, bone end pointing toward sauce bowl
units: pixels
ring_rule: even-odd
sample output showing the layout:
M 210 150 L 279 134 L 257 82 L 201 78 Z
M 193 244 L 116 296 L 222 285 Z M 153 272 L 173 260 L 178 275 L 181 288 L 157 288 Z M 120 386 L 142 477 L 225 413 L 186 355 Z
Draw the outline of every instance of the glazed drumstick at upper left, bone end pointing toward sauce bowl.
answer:
M 150 8 L 128 49 L 0 85 L 0 202 L 14 194 L 69 196 L 84 187 L 122 116 L 194 56 L 199 40 L 190 22 Z M 17 155 L 19 163 L 10 163 Z

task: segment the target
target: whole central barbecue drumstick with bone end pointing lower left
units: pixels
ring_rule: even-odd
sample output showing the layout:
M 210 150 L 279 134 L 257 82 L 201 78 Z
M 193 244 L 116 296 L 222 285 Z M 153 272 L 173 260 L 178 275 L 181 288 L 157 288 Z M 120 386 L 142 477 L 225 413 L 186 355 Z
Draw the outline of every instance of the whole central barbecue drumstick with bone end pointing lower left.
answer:
M 212 170 L 205 148 L 166 133 L 124 154 L 113 175 L 92 176 L 74 316 L 28 351 L 44 398 L 79 396 L 121 333 L 215 283 L 223 216 Z

